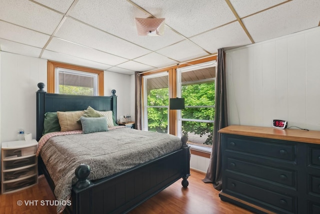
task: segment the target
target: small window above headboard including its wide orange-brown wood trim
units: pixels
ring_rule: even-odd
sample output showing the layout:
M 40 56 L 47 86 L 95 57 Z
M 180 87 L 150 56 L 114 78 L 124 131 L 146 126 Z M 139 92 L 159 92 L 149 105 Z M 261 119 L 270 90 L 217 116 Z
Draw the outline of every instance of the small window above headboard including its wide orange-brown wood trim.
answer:
M 48 93 L 104 95 L 104 72 L 102 70 L 52 61 L 48 61 L 47 65 Z M 74 90 L 74 87 L 78 88 Z M 70 90 L 71 88 L 73 89 Z M 91 92 L 87 93 L 90 90 Z

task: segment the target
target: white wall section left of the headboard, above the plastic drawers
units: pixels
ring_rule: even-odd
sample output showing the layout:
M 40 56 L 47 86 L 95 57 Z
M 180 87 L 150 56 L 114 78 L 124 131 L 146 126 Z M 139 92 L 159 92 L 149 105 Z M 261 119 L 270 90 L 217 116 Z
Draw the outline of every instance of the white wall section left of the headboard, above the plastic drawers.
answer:
M 17 140 L 17 131 L 36 134 L 35 92 L 46 84 L 46 60 L 6 52 L 1 55 L 0 141 Z

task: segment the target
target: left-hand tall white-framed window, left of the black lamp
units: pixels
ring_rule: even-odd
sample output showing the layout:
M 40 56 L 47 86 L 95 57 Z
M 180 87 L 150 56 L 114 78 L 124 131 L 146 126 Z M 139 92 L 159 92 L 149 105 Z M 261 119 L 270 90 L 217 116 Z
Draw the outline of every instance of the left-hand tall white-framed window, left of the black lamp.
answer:
M 143 130 L 168 133 L 168 74 L 143 77 Z

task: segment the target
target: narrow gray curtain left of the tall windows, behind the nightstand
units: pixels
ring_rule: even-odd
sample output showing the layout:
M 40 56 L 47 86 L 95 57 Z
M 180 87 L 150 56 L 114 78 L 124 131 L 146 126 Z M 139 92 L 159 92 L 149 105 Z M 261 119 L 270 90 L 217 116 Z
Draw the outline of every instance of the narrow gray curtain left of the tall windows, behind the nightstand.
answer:
M 141 130 L 141 82 L 142 77 L 138 75 L 139 72 L 134 73 L 134 84 L 135 84 L 135 107 L 134 107 L 134 121 L 135 129 Z

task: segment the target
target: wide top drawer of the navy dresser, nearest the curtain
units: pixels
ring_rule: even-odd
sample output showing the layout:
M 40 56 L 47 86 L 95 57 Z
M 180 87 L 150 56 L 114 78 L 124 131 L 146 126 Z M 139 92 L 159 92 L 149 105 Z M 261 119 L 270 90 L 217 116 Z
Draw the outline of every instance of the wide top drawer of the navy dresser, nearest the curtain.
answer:
M 293 143 L 265 141 L 259 138 L 226 136 L 225 149 L 252 155 L 295 161 L 296 145 Z

